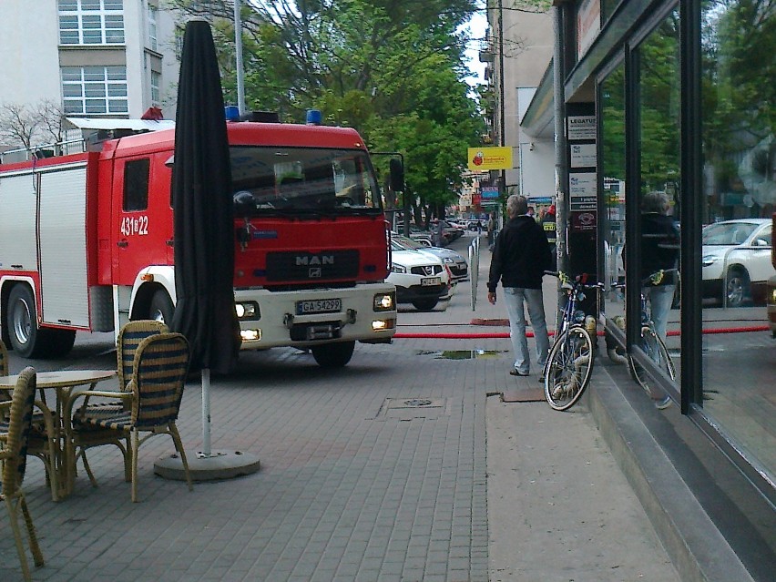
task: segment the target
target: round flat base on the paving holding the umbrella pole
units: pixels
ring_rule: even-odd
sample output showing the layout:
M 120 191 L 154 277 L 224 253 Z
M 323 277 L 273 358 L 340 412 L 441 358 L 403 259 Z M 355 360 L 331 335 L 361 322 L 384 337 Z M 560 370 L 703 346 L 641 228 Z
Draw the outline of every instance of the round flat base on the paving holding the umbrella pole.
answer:
M 241 451 L 211 451 L 186 454 L 192 481 L 217 481 L 251 475 L 260 468 L 258 457 Z M 186 481 L 186 472 L 178 454 L 160 457 L 154 463 L 154 473 L 165 479 Z

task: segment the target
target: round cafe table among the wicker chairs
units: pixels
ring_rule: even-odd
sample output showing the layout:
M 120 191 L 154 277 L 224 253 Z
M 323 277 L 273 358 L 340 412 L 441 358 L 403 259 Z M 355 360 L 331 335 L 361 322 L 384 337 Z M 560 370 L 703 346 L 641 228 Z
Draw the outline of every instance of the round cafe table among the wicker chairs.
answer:
M 72 446 L 72 400 L 83 390 L 92 390 L 104 380 L 117 375 L 115 370 L 61 370 L 58 372 L 37 372 L 36 387 L 40 400 L 36 406 L 44 414 L 50 414 L 53 419 L 54 433 L 48 434 L 54 446 L 54 458 L 51 459 L 52 470 L 56 472 L 57 486 L 52 490 L 52 498 L 58 501 L 73 493 L 76 481 L 76 451 Z M 18 375 L 0 376 L 0 390 L 13 390 Z M 81 386 L 85 389 L 76 390 Z M 46 403 L 46 392 L 54 391 L 56 406 L 54 410 Z

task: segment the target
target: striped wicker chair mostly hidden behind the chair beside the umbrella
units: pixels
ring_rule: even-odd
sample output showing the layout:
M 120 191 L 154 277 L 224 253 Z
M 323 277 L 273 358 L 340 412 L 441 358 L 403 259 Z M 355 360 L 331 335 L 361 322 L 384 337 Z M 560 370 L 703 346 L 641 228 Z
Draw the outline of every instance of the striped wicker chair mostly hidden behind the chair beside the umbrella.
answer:
M 124 327 L 121 328 L 118 332 L 116 344 L 118 390 L 120 392 L 128 392 L 128 390 L 131 390 L 128 388 L 128 385 L 132 378 L 132 362 L 135 360 L 135 352 L 138 351 L 140 342 L 152 335 L 167 332 L 169 332 L 167 325 L 155 320 L 135 320 L 126 323 Z M 128 401 L 126 400 L 103 403 L 88 403 L 87 400 L 87 402 L 84 403 L 84 406 L 87 407 L 89 414 L 92 416 L 102 415 L 111 417 L 128 411 Z M 94 487 L 97 487 L 97 479 L 95 479 L 95 475 L 92 473 L 91 467 L 87 461 L 86 449 L 89 446 L 97 446 L 97 444 L 115 444 L 128 461 L 128 435 L 125 435 L 125 438 L 120 438 L 117 436 L 116 431 L 105 430 L 97 426 L 84 425 L 81 427 L 81 431 L 77 434 L 77 437 L 75 445 L 77 446 L 78 457 L 83 461 L 84 469 L 87 471 L 89 481 Z M 125 465 L 129 467 L 128 463 Z M 131 480 L 129 470 L 127 470 L 125 478 L 127 481 Z

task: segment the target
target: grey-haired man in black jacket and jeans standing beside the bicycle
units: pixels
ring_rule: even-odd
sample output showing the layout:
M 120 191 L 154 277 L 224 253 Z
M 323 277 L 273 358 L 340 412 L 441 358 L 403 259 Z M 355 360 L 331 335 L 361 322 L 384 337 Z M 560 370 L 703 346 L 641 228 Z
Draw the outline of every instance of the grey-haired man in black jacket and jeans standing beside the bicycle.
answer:
M 530 372 L 524 302 L 534 329 L 536 361 L 540 370 L 544 369 L 549 351 L 542 277 L 551 265 L 550 247 L 542 225 L 528 216 L 527 210 L 525 197 L 513 194 L 506 199 L 509 220 L 496 237 L 487 282 L 487 299 L 493 304 L 499 280 L 504 287 L 504 302 L 515 353 L 515 363 L 510 372 L 513 376 L 527 376 Z M 539 380 L 544 379 L 540 376 Z

